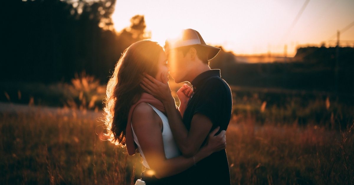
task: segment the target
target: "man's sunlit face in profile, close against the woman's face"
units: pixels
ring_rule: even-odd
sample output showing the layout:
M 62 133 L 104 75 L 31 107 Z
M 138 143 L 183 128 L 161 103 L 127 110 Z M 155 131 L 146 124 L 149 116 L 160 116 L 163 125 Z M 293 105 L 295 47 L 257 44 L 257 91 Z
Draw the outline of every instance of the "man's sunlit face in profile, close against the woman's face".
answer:
M 186 81 L 185 76 L 188 73 L 188 53 L 183 56 L 182 51 L 172 49 L 166 52 L 167 63 L 170 67 L 170 75 L 175 80 L 176 83 L 181 83 Z

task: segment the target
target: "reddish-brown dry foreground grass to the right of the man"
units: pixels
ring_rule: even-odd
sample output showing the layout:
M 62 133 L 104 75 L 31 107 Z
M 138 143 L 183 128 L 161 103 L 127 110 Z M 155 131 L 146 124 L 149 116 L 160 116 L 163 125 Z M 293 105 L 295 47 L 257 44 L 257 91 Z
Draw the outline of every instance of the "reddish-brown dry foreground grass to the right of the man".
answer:
M 263 125 L 249 118 L 227 131 L 233 184 L 354 184 L 353 124 Z

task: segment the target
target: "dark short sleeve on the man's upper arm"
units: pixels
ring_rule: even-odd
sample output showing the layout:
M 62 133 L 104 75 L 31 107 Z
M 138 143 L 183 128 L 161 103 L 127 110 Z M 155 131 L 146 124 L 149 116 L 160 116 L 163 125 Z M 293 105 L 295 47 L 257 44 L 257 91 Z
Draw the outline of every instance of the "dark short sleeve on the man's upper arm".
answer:
M 221 79 L 210 79 L 206 82 L 201 91 L 194 114 L 202 114 L 208 117 L 213 123 L 212 129 L 220 126 L 220 117 L 225 114 L 225 86 Z

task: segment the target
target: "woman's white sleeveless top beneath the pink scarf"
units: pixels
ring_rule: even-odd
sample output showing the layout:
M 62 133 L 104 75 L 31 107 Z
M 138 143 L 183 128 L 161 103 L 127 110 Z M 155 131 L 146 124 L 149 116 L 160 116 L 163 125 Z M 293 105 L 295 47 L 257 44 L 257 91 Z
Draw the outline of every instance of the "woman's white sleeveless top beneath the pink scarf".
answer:
M 148 104 L 148 105 L 150 105 L 150 104 Z M 162 130 L 162 140 L 164 142 L 164 150 L 165 150 L 166 158 L 169 159 L 169 158 L 173 158 L 173 157 L 177 157 L 177 156 L 181 155 L 181 152 L 179 151 L 179 149 L 177 147 L 175 139 L 173 139 L 173 135 L 172 135 L 171 128 L 170 128 L 170 125 L 169 125 L 169 120 L 164 115 L 164 113 L 162 113 L 161 111 L 156 109 L 154 106 L 152 106 L 152 105 L 150 105 L 150 106 L 154 109 L 156 114 L 158 114 L 160 116 L 161 120 L 162 120 L 162 128 L 163 128 L 163 130 Z M 132 131 L 133 131 L 134 141 L 135 141 L 136 145 L 138 146 L 138 150 L 139 150 L 139 152 L 141 154 L 141 157 L 143 158 L 143 165 L 146 168 L 150 169 L 150 167 L 148 165 L 148 162 L 146 161 L 146 158 L 144 156 L 144 153 L 141 150 L 138 138 L 135 135 L 133 126 L 131 125 L 131 127 L 132 127 Z

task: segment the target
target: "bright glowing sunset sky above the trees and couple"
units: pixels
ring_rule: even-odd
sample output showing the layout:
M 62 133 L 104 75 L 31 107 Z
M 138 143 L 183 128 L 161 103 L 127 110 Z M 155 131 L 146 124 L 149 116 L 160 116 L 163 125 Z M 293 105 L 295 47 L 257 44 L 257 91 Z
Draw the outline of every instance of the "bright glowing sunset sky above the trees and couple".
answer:
M 113 21 L 119 31 L 134 15 L 144 15 L 151 40 L 162 45 L 181 29 L 192 28 L 205 42 L 236 54 L 283 53 L 287 45 L 289 55 L 295 54 L 296 45 L 328 44 L 337 30 L 354 21 L 354 0 L 311 0 L 291 29 L 305 1 L 117 1 Z M 341 40 L 354 45 L 354 26 Z

